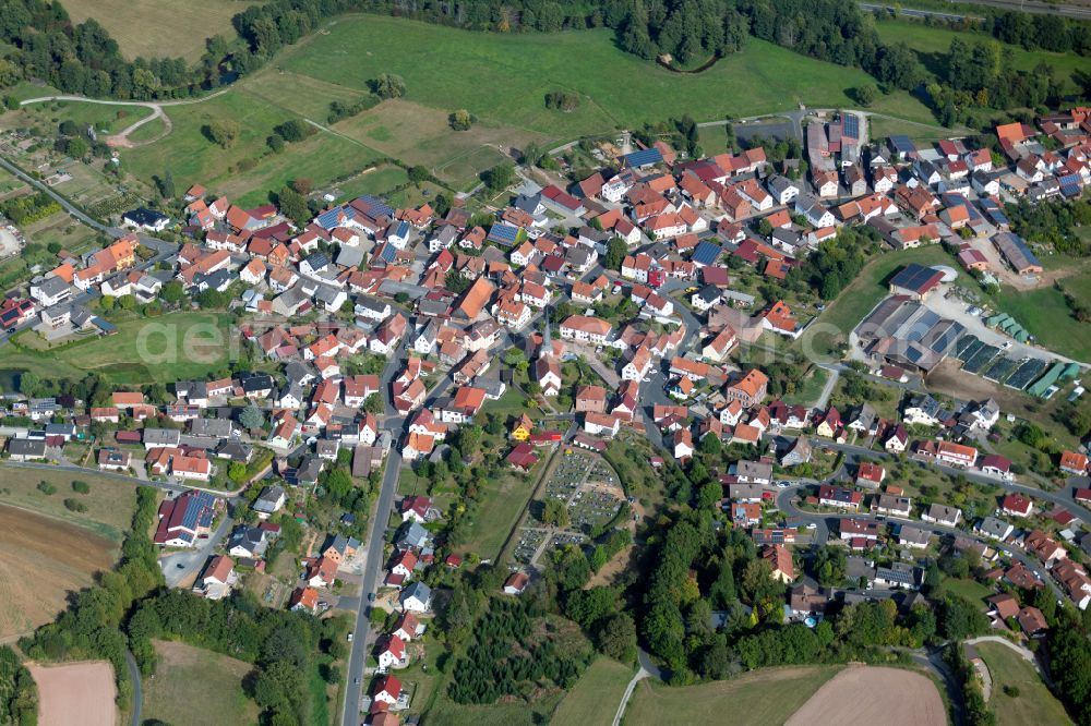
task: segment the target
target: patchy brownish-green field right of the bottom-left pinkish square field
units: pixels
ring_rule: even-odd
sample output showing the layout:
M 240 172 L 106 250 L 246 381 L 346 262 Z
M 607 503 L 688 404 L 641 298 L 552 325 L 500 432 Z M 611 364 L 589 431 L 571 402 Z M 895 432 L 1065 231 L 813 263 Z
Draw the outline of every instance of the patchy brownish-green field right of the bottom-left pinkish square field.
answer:
M 155 678 L 144 679 L 144 719 L 192 726 L 257 723 L 257 704 L 242 690 L 251 664 L 184 643 L 153 644 L 159 662 Z

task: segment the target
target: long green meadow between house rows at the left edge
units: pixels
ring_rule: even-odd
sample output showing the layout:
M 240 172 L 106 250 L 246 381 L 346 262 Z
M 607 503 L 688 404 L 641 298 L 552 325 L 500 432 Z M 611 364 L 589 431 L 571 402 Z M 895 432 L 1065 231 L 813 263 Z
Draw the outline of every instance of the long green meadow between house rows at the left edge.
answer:
M 57 350 L 29 349 L 40 347 L 40 339 L 24 332 L 17 338 L 21 346 L 0 349 L 0 370 L 33 371 L 41 378 L 94 372 L 121 385 L 204 378 L 228 362 L 228 342 L 238 336 L 227 315 L 204 312 L 133 319 L 117 327 L 112 336 Z

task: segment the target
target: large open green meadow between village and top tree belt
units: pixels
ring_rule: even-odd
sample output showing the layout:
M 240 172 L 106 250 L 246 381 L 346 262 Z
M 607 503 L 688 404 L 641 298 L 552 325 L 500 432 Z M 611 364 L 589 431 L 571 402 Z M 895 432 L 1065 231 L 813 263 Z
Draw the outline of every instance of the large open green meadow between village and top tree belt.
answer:
M 379 104 L 281 154 L 268 153 L 265 140 L 274 126 L 292 118 L 325 125 L 331 101 L 365 97 L 368 81 L 382 73 L 405 78 L 404 99 Z M 551 146 L 683 114 L 714 120 L 800 102 L 851 106 L 846 92 L 868 80 L 863 71 L 753 38 L 712 69 L 681 75 L 623 52 L 608 29 L 512 36 L 345 15 L 226 94 L 168 108 L 173 131 L 123 150 L 122 158 L 142 179 L 170 169 L 179 186 L 200 182 L 242 204 L 265 202 L 290 179 L 307 178 L 322 189 L 385 156 L 425 166 L 453 187 L 466 189 L 529 142 Z M 547 110 L 544 95 L 559 89 L 577 93 L 579 107 L 570 113 Z M 478 119 L 470 131 L 447 125 L 447 114 L 460 108 Z M 932 121 L 904 92 L 883 96 L 873 109 Z M 240 124 L 230 148 L 205 137 L 202 129 L 214 119 Z M 152 138 L 153 130 L 140 136 Z

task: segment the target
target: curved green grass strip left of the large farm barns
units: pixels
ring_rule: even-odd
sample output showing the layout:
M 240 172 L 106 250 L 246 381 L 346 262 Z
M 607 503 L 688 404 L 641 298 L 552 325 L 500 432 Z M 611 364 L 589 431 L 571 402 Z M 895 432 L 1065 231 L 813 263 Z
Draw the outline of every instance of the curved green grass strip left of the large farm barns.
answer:
M 832 351 L 838 342 L 848 340 L 849 332 L 888 294 L 885 282 L 899 267 L 909 263 L 954 266 L 954 262 L 938 244 L 882 253 L 823 311 L 820 325 L 808 328 L 801 341 L 818 353 Z

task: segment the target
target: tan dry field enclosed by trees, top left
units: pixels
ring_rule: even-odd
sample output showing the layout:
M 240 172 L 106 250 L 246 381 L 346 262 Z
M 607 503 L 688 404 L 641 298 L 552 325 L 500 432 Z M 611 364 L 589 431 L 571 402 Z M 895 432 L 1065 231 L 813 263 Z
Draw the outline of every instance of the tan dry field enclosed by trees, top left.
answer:
M 231 37 L 231 16 L 251 4 L 248 0 L 64 0 L 73 22 L 94 17 L 109 31 L 129 59 L 178 58 L 195 61 L 205 38 Z

